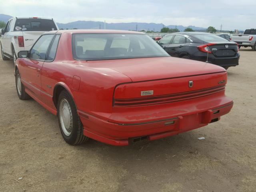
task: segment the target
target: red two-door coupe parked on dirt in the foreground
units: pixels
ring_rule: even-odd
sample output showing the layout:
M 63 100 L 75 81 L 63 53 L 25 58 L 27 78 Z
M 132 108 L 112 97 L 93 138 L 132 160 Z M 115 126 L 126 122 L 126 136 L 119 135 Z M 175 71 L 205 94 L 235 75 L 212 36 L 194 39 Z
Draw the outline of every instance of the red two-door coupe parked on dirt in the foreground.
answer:
M 140 32 L 46 32 L 18 57 L 19 98 L 57 115 L 69 144 L 164 138 L 216 122 L 233 106 L 224 68 L 170 57 Z

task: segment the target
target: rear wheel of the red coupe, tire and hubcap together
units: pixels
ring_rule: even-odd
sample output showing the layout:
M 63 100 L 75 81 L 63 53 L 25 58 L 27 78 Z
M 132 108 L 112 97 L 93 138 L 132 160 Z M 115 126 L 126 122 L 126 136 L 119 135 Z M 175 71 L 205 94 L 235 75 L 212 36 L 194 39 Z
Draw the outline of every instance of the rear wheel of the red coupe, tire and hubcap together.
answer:
M 76 105 L 66 90 L 59 95 L 57 116 L 60 132 L 68 144 L 77 145 L 89 139 L 83 134 L 83 126 L 77 114 Z

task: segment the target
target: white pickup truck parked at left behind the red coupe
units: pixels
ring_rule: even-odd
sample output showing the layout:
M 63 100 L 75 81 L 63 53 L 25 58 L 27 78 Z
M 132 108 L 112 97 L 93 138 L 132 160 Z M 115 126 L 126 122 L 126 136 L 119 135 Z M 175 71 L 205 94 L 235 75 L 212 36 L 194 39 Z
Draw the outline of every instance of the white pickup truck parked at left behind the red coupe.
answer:
M 58 30 L 52 18 L 10 18 L 0 39 L 2 59 L 13 59 L 15 63 L 19 51 L 29 51 L 41 34 L 51 30 Z

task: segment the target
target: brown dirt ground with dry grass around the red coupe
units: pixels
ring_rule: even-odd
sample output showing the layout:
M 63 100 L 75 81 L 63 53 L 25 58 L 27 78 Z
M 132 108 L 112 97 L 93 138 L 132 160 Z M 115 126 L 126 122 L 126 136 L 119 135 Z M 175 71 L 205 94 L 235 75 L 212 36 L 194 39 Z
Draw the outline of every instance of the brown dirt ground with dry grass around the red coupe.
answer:
M 256 192 L 256 52 L 240 54 L 228 69 L 229 114 L 125 147 L 68 145 L 56 116 L 18 99 L 12 61 L 0 58 L 0 192 Z

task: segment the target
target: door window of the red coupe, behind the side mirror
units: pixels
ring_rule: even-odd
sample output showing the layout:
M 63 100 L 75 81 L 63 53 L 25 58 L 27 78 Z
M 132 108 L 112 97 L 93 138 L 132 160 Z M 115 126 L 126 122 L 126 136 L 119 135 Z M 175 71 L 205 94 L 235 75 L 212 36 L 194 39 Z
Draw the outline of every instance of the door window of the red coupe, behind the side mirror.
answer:
M 54 34 L 42 35 L 30 50 L 30 58 L 34 60 L 45 60 L 46 52 Z

